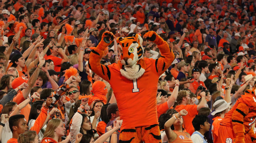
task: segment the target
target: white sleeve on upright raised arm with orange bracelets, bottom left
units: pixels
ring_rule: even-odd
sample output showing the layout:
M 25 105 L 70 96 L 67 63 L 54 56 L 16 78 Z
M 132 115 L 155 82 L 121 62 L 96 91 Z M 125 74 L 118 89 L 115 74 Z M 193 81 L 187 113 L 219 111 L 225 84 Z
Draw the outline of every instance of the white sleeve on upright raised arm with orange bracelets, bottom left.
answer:
M 72 118 L 72 124 L 70 126 L 70 132 L 72 132 L 74 135 L 77 135 L 80 131 L 80 127 L 82 124 L 82 115 L 79 114 L 78 112 L 75 113 L 75 115 Z M 74 143 L 76 141 L 76 138 L 73 138 L 71 140 L 71 143 Z

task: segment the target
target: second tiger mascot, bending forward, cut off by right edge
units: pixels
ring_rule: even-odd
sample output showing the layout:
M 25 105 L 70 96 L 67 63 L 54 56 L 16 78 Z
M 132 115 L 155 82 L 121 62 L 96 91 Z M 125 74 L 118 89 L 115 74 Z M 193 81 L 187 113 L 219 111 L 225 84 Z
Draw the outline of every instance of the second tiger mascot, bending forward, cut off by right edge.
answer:
M 256 143 L 253 123 L 256 121 L 256 84 L 245 91 L 220 121 L 218 143 Z

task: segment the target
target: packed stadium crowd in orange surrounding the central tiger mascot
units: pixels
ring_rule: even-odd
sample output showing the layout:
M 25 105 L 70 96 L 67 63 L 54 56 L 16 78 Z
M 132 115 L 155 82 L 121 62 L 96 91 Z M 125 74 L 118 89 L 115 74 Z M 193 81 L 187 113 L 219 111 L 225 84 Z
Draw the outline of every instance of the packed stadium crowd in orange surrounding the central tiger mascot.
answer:
M 254 0 L 0 0 L 1 143 L 119 142 L 113 89 L 88 64 L 105 31 L 115 37 L 155 31 L 174 53 L 155 93 L 163 143 L 256 142 L 255 6 Z M 102 65 L 120 62 L 116 40 Z M 143 50 L 143 58 L 162 57 L 145 38 Z

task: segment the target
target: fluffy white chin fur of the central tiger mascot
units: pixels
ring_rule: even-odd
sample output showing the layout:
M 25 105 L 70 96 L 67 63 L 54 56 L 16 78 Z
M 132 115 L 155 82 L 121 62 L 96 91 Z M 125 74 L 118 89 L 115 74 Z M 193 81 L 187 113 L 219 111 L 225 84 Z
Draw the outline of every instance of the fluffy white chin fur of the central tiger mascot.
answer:
M 129 80 L 134 80 L 134 79 L 138 79 L 139 77 L 141 77 L 144 72 L 145 69 L 141 68 L 139 70 L 139 65 L 133 65 L 131 67 L 126 67 L 124 66 L 124 69 L 120 69 L 120 72 L 122 74 L 122 76 L 124 76 L 125 78 L 129 79 Z

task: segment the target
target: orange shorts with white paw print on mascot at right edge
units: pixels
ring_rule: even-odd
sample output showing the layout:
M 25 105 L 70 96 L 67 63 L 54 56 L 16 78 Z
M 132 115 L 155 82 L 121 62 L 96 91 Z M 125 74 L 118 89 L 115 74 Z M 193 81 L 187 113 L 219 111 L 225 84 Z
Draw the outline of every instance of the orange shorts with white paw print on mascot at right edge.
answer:
M 236 134 L 232 127 L 220 125 L 218 131 L 218 143 L 232 143 L 236 139 Z M 244 142 L 252 143 L 251 137 L 248 134 L 244 135 Z

